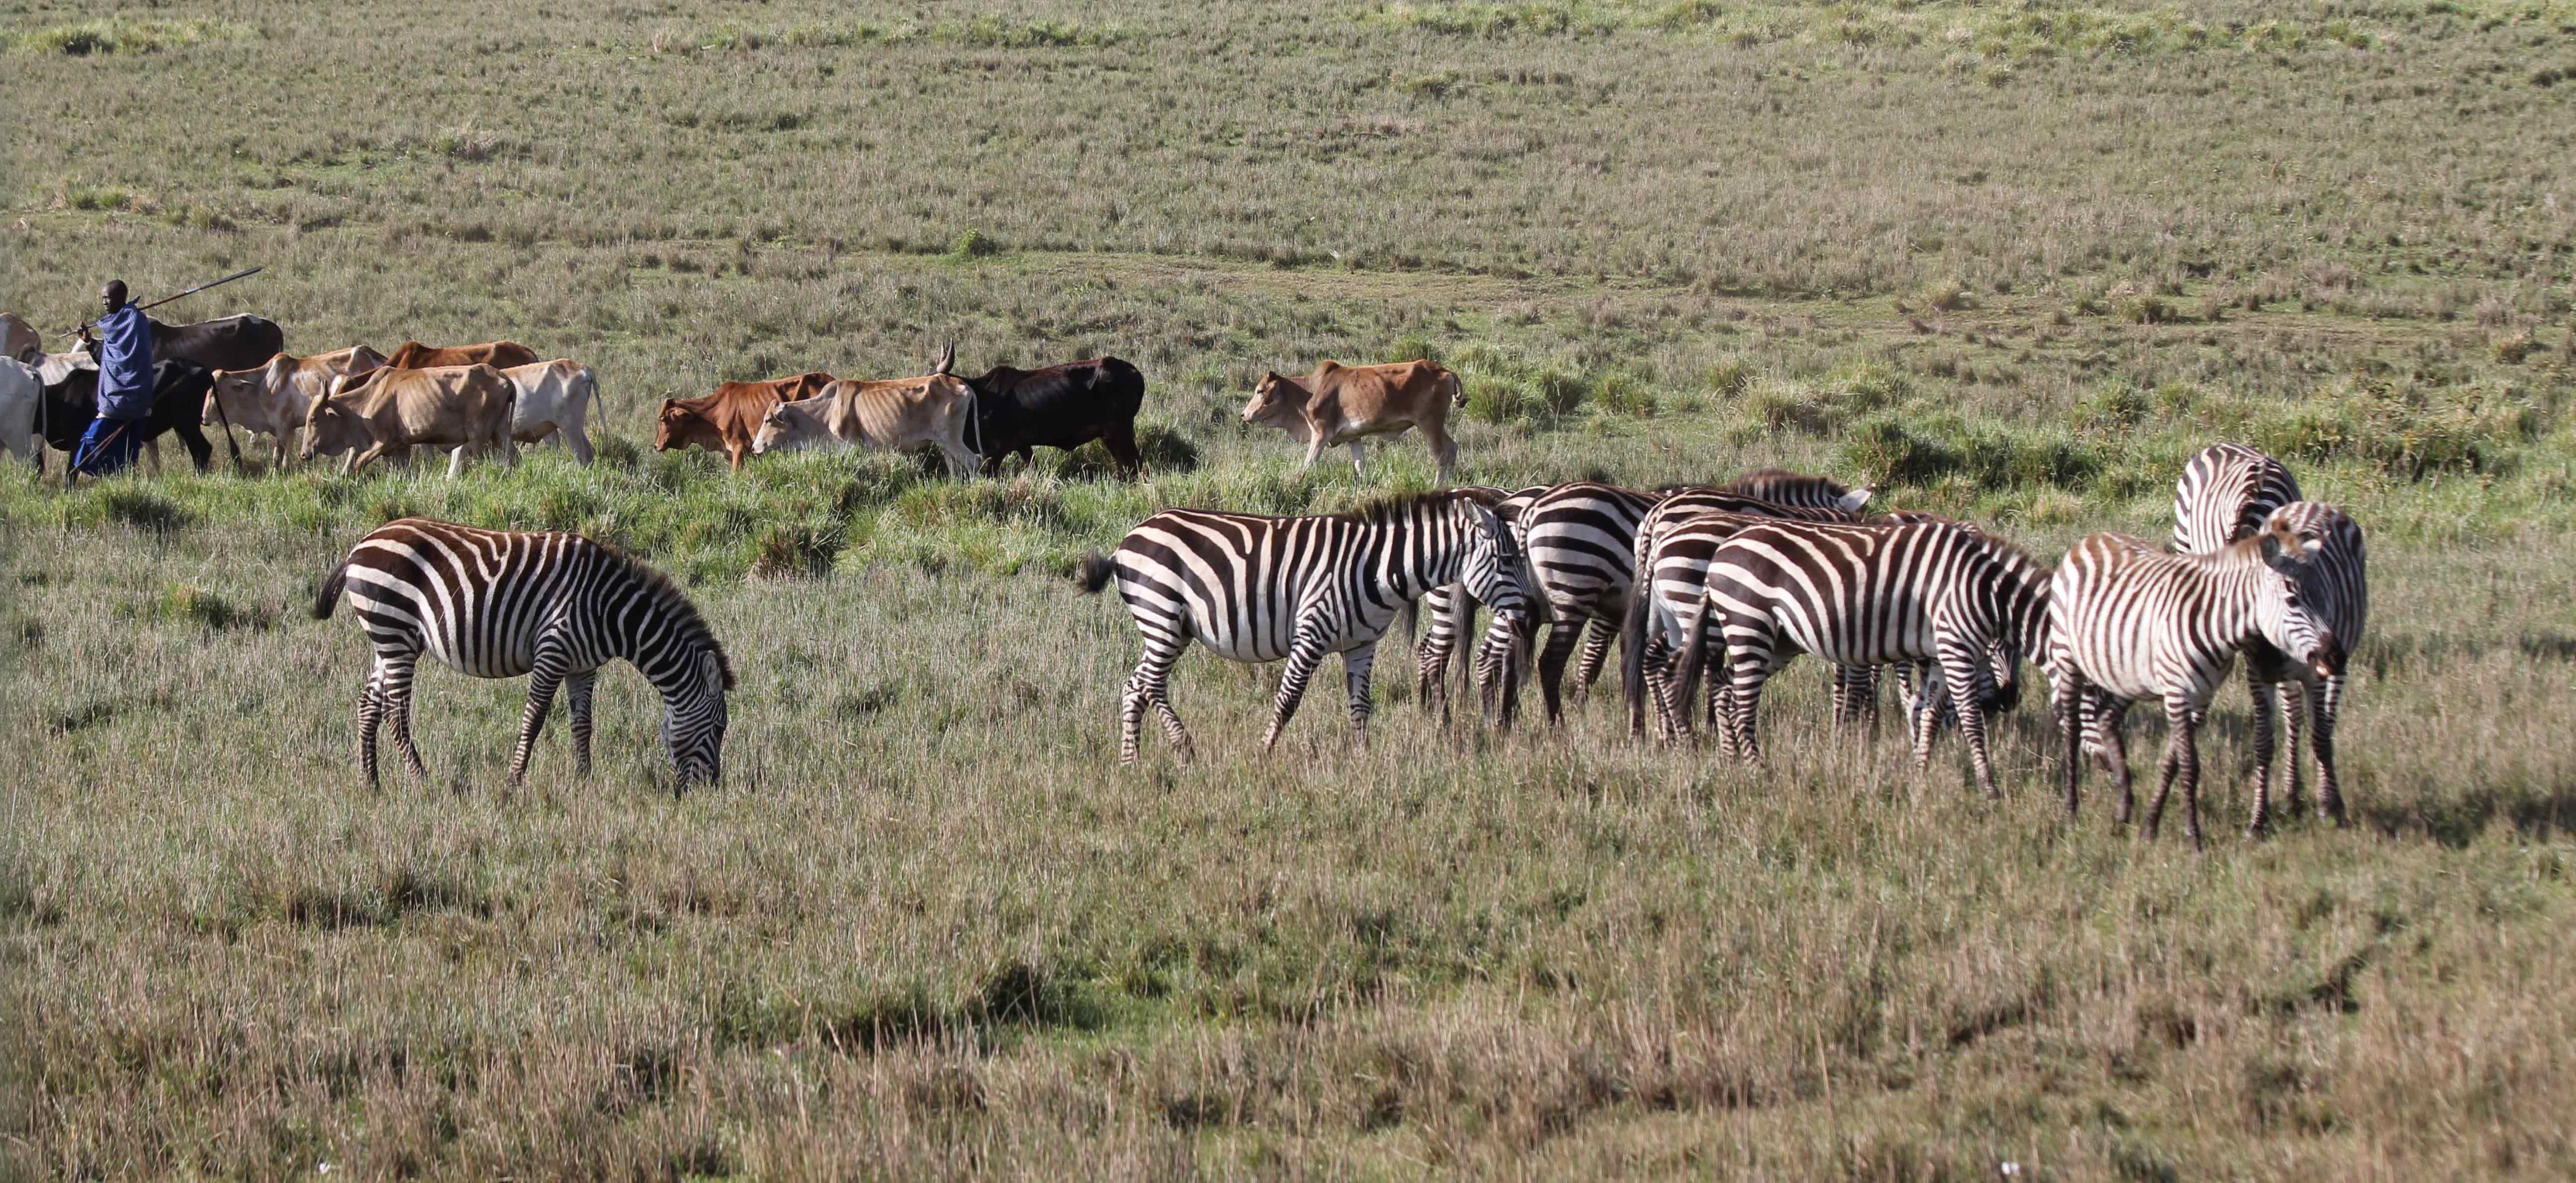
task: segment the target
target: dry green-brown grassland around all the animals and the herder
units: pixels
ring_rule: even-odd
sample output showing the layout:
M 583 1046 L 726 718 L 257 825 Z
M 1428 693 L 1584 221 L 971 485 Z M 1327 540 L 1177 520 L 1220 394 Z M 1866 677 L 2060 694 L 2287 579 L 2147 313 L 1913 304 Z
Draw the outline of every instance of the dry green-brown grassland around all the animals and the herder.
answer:
M 0 0 L 0 307 L 265 265 L 185 309 L 605 402 L 587 469 L 0 472 L 0 1175 L 2576 1173 L 2566 3 Z M 943 343 L 1136 361 L 1149 477 L 649 451 Z M 1468 482 L 1788 464 L 2038 554 L 2259 443 L 2370 531 L 2357 825 L 2231 832 L 2241 691 L 2195 856 L 2066 825 L 2038 711 L 1986 804 L 1814 670 L 1744 771 L 1396 655 L 1265 755 L 1273 670 L 1190 657 L 1200 760 L 1121 771 L 1064 575 L 1430 487 L 1236 415 L 1404 356 Z M 502 789 L 523 686 L 433 670 L 433 784 L 366 791 L 307 606 L 399 513 L 680 577 L 726 784 L 611 673 L 598 773 L 556 724 Z

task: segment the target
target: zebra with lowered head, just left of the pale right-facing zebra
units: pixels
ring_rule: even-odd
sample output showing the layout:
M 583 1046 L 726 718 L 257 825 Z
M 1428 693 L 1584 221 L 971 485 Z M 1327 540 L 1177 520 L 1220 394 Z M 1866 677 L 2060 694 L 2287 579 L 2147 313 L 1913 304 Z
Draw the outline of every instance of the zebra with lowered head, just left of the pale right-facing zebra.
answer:
M 1662 572 L 1659 572 L 1662 575 Z M 1682 701 L 1708 660 L 1708 634 L 1728 662 L 1726 735 L 1759 760 L 1762 683 L 1798 652 L 1868 665 L 1932 665 L 1958 709 L 1976 784 L 1999 796 L 1986 717 L 2020 698 L 2022 655 L 2040 652 L 2048 570 L 2020 549 L 1947 523 L 1832 526 L 1770 521 L 1734 531 L 1708 557 L 1705 595 L 1680 621 Z M 1935 711 L 1917 711 L 1914 755 L 1929 763 Z

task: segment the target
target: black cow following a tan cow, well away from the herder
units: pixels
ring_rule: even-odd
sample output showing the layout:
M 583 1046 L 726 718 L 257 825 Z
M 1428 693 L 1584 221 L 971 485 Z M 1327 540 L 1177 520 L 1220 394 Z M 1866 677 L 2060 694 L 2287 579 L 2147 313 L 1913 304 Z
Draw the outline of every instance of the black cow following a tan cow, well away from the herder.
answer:
M 938 374 L 951 374 L 958 351 L 940 353 Z M 1136 410 L 1144 407 L 1144 374 L 1118 358 L 1066 361 L 1046 369 L 994 366 L 974 387 L 976 451 L 984 474 L 1002 472 L 1002 456 L 1030 448 L 1079 448 L 1100 441 L 1121 477 L 1136 477 Z

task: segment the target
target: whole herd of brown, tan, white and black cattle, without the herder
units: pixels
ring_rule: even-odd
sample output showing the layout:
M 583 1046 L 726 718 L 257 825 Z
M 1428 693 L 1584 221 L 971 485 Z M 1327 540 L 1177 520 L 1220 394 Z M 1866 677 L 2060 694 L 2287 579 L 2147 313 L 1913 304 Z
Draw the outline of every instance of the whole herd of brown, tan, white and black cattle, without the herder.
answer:
M 72 451 L 98 407 L 98 366 L 88 353 L 44 353 L 23 320 L 0 312 L 0 446 L 44 469 L 44 448 Z M 204 472 L 214 448 L 204 428 L 270 438 L 270 464 L 289 451 L 301 461 L 348 456 L 343 472 L 412 448 L 448 451 L 448 477 L 469 454 L 518 459 L 518 443 L 559 438 L 590 464 L 587 418 L 598 379 L 569 358 L 541 361 L 515 340 L 482 345 L 402 343 L 394 353 L 350 345 L 291 356 L 286 335 L 265 317 L 196 325 L 152 322 L 155 397 L 137 425 L 157 461 L 160 436 L 178 436 Z M 1007 456 L 1033 448 L 1079 448 L 1100 441 L 1118 474 L 1133 477 L 1136 412 L 1144 374 L 1121 358 L 1048 369 L 997 366 L 984 376 L 953 374 L 956 348 L 938 369 L 909 379 L 835 379 L 796 374 L 768 381 L 724 381 L 714 394 L 662 399 L 654 448 L 744 456 L 788 448 L 938 451 L 951 472 L 994 474 Z M 1370 436 L 1422 428 L 1440 477 L 1458 446 L 1448 410 L 1463 405 L 1458 376 L 1427 363 L 1340 366 L 1327 361 L 1306 381 L 1270 374 L 1244 407 L 1247 423 L 1288 430 L 1306 443 L 1306 464 L 1327 446 L 1347 446 L 1352 466 Z M 301 446 L 296 446 L 301 436 Z

